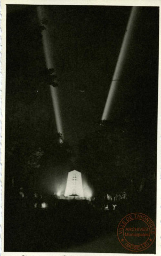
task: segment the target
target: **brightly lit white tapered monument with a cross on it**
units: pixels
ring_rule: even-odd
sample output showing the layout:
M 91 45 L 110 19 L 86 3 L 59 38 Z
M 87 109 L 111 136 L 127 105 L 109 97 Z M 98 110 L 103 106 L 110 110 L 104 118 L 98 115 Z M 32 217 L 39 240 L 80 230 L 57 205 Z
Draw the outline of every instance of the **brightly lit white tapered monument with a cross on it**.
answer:
M 65 197 L 84 198 L 81 172 L 76 170 L 68 172 Z

